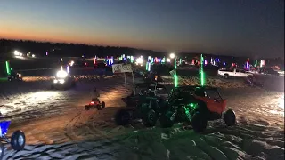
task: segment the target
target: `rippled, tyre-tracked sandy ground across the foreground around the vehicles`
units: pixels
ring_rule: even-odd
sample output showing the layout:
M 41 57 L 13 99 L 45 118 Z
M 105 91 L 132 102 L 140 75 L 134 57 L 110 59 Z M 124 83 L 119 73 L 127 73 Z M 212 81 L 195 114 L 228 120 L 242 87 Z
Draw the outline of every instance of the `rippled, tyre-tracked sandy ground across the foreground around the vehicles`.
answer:
M 68 91 L 49 90 L 49 81 L 43 80 L 1 85 L 1 112 L 12 120 L 8 135 L 20 129 L 27 137 L 22 151 L 6 145 L 4 159 L 284 158 L 284 92 L 225 87 L 221 93 L 238 124 L 209 122 L 207 131 L 197 134 L 182 124 L 170 129 L 159 123 L 143 128 L 140 121 L 116 126 L 113 116 L 130 89 L 119 77 L 81 79 Z M 107 108 L 85 111 L 94 86 Z

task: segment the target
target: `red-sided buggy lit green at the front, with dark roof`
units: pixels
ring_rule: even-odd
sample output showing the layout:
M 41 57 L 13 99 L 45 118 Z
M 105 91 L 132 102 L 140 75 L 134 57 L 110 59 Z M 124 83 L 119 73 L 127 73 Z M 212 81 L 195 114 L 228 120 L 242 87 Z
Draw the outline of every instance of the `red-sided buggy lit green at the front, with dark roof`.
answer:
M 232 109 L 224 111 L 226 100 L 217 88 L 207 86 L 181 86 L 172 90 L 167 107 L 160 116 L 161 127 L 171 127 L 175 122 L 192 125 L 195 132 L 203 132 L 208 121 L 224 118 L 226 125 L 236 122 Z

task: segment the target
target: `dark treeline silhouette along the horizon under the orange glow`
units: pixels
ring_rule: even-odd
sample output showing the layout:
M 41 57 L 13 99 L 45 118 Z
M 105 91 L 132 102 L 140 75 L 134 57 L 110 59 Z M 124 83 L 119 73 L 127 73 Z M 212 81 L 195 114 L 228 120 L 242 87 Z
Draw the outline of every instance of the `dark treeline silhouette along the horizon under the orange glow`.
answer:
M 0 55 L 12 55 L 15 50 L 37 56 L 45 56 L 48 52 L 49 56 L 69 56 L 80 57 L 85 54 L 86 57 L 97 56 L 117 56 L 117 55 L 153 55 L 164 56 L 165 52 L 155 52 L 151 50 L 135 49 L 121 46 L 102 46 L 88 44 L 67 44 L 67 43 L 51 43 L 39 42 L 32 40 L 13 40 L 0 39 Z

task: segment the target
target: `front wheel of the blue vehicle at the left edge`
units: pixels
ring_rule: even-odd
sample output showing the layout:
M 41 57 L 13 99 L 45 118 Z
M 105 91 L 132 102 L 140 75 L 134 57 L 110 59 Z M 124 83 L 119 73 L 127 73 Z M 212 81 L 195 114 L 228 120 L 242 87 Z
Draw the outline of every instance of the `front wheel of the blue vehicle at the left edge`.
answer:
M 21 150 L 25 147 L 26 137 L 24 132 L 18 130 L 12 133 L 11 146 L 14 150 Z

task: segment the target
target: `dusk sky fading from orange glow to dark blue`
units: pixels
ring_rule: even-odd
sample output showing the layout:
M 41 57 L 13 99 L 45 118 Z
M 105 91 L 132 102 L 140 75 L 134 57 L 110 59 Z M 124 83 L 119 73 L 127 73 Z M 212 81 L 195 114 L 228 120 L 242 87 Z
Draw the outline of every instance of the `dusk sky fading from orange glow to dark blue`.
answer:
M 0 37 L 284 57 L 284 1 L 0 0 Z

